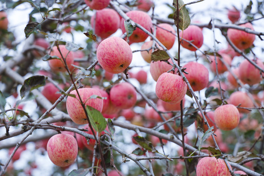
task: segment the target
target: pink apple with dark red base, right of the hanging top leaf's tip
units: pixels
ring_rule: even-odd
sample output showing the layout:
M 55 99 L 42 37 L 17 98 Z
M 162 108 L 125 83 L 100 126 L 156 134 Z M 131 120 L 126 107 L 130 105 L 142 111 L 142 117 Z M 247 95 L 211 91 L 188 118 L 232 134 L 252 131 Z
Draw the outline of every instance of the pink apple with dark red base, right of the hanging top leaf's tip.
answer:
M 199 28 L 196 25 L 189 25 L 187 29 L 183 31 L 183 37 L 182 37 L 182 31 L 179 33 L 180 38 L 183 38 L 187 41 L 192 41 L 192 44 L 196 45 L 198 48 L 200 48 L 203 44 L 203 34 L 201 28 Z M 189 49 L 191 51 L 196 51 L 197 49 L 189 44 L 186 41 L 181 41 L 182 47 Z

